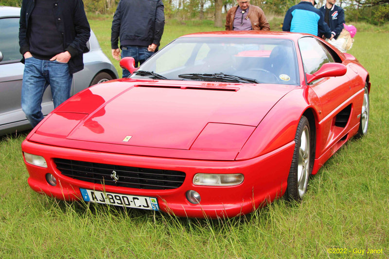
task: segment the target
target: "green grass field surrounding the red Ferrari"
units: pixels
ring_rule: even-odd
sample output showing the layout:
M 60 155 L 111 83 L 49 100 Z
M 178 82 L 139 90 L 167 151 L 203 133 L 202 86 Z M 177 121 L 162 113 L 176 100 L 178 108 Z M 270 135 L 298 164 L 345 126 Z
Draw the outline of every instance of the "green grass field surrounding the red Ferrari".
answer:
M 110 57 L 110 20 L 90 24 Z M 168 23 L 162 45 L 213 30 Z M 0 258 L 389 258 L 388 45 L 388 33 L 356 34 L 350 53 L 371 76 L 369 134 L 327 161 L 301 204 L 207 221 L 65 203 L 29 188 L 25 135 L 1 138 Z

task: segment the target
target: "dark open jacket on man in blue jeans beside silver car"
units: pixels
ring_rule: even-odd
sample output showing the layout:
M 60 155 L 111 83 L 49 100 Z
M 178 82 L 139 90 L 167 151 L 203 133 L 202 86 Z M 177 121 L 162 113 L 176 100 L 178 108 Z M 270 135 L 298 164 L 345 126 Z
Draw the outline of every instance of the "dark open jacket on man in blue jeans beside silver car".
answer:
M 20 53 L 30 51 L 30 16 L 35 7 L 34 0 L 23 0 L 20 10 L 19 45 Z M 57 0 L 53 2 L 55 25 L 62 36 L 64 51 L 71 54 L 68 62 L 73 74 L 84 69 L 83 52 L 87 47 L 90 27 L 82 0 Z M 21 60 L 24 63 L 24 57 Z

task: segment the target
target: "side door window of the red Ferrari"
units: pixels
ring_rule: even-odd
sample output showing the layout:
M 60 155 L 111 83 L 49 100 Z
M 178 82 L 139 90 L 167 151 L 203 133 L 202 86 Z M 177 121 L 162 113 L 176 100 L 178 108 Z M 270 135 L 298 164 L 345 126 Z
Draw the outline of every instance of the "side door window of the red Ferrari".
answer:
M 306 73 L 312 74 L 324 63 L 335 62 L 330 52 L 314 37 L 299 39 L 299 48 Z

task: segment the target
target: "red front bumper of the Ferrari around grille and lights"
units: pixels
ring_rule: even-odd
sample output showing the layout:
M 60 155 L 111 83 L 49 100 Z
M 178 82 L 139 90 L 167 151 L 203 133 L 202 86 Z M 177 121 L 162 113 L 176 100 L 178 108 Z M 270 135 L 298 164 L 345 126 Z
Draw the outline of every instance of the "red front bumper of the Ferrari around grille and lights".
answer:
M 48 168 L 26 163 L 30 174 L 30 187 L 46 195 L 62 200 L 80 200 L 82 189 L 101 190 L 128 195 L 157 197 L 161 211 L 179 217 L 218 218 L 246 214 L 255 208 L 271 202 L 283 195 L 291 165 L 294 142 L 266 155 L 243 161 L 191 160 L 139 155 L 103 153 L 88 150 L 49 146 L 24 140 L 23 152 L 41 155 Z M 123 166 L 176 170 L 186 173 L 183 184 L 170 190 L 144 190 L 94 184 L 62 175 L 53 158 L 72 159 L 87 162 L 106 163 Z M 52 173 L 57 185 L 51 186 L 45 175 Z M 196 173 L 243 173 L 244 181 L 237 186 L 214 187 L 193 184 Z M 200 204 L 192 204 L 186 198 L 188 190 L 201 195 Z

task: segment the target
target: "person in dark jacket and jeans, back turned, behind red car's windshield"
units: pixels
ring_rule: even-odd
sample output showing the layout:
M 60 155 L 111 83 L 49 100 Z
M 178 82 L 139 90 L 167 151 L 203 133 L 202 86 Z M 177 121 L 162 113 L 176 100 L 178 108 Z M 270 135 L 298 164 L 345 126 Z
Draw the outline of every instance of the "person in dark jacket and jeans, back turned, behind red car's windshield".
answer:
M 120 0 L 111 27 L 113 58 L 133 57 L 138 67 L 158 51 L 165 25 L 163 8 L 162 0 Z M 123 77 L 129 75 L 123 69 Z

